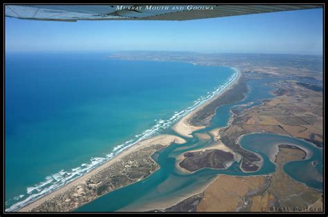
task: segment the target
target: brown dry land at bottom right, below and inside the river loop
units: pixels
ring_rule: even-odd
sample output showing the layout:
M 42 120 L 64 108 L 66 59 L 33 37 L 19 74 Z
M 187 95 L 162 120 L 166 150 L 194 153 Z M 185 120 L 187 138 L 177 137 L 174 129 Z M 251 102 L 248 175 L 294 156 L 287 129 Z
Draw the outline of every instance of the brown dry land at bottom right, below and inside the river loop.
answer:
M 322 193 L 294 182 L 282 171 L 282 165 L 300 160 L 304 152 L 298 149 L 281 148 L 277 154 L 277 172 L 270 176 L 226 176 L 219 175 L 215 182 L 204 191 L 197 211 L 274 211 L 275 207 L 286 207 L 284 211 L 294 211 L 294 207 L 316 207 L 322 210 Z M 264 185 L 270 177 L 270 185 Z M 261 193 L 256 191 L 261 190 Z M 250 203 L 246 208 L 244 198 Z

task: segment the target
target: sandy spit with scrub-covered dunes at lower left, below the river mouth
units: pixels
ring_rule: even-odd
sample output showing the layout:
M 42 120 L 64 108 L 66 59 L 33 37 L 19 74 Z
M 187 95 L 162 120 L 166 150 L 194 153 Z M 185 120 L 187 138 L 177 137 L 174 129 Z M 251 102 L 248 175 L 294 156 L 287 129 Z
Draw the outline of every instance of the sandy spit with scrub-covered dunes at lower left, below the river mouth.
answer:
M 71 211 L 76 209 L 109 191 L 125 187 L 137 182 L 138 180 L 146 178 L 152 172 L 159 169 L 158 164 L 156 164 L 151 158 L 153 153 L 172 143 L 183 144 L 185 142 L 186 141 L 183 140 L 183 138 L 167 134 L 156 135 L 153 138 L 138 142 L 116 155 L 115 158 L 105 162 L 100 167 L 93 169 L 89 173 L 86 173 L 84 176 L 81 176 L 72 182 L 69 182 L 69 184 L 64 187 L 31 202 L 18 211 Z M 139 158 L 139 160 L 137 162 L 132 162 L 136 158 Z M 131 167 L 136 167 L 138 165 L 144 166 L 145 164 L 148 164 L 149 167 L 145 168 L 143 173 L 136 174 L 133 178 L 129 177 L 129 175 L 134 172 Z M 102 178 L 109 175 L 111 169 L 113 169 L 113 171 L 118 171 L 121 174 L 126 173 L 127 178 L 120 180 L 121 182 L 124 180 L 125 183 L 102 183 L 102 181 L 104 181 Z M 118 177 L 118 179 L 120 178 Z M 95 180 L 99 182 L 93 183 Z M 100 185 L 103 187 L 101 192 L 99 190 L 91 192 L 92 189 L 97 189 Z M 104 187 L 108 188 L 105 189 Z M 71 202 L 72 196 L 75 199 L 74 202 Z

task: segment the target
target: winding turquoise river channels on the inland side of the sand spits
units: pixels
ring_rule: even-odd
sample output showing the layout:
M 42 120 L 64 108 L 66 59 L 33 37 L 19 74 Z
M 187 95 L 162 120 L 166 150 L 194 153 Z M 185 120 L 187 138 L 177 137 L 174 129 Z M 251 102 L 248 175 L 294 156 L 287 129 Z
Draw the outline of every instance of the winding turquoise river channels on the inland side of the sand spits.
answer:
M 273 81 L 275 79 L 271 78 L 248 81 L 247 84 L 250 92 L 244 100 L 219 107 L 215 117 L 212 118 L 211 126 L 197 132 L 206 133 L 211 129 L 226 126 L 230 117 L 229 111 L 234 106 L 248 104 L 250 102 L 253 102 L 252 106 L 257 106 L 261 104 L 261 100 L 271 98 L 270 91 L 273 91 L 273 88 L 266 84 Z M 167 133 L 175 134 L 170 129 L 167 129 Z M 154 172 L 145 180 L 112 191 L 75 211 L 145 211 L 163 209 L 163 204 L 169 200 L 178 202 L 179 198 L 181 200 L 182 198 L 186 198 L 186 196 L 191 196 L 193 192 L 194 194 L 198 193 L 197 189 L 206 185 L 219 173 L 235 176 L 273 173 L 275 171 L 275 164 L 271 162 L 268 155 L 270 148 L 276 147 L 276 144 L 294 144 L 309 149 L 312 153 L 309 159 L 289 162 L 284 165 L 284 171 L 294 180 L 302 182 L 314 189 L 322 190 L 322 182 L 318 180 L 318 178 L 322 178 L 322 150 L 309 142 L 304 142 L 304 140 L 267 133 L 245 135 L 241 140 L 242 147 L 262 155 L 264 159 L 259 171 L 244 173 L 239 168 L 239 164 L 235 162 L 231 167 L 224 170 L 201 169 L 192 174 L 183 174 L 175 168 L 175 157 L 185 151 L 205 147 L 211 142 L 201 141 L 198 138 L 185 139 L 188 140 L 187 143 L 183 145 L 172 144 L 170 147 L 158 151 L 158 153 L 153 155 L 154 160 L 161 166 L 161 169 Z M 263 145 L 264 143 L 266 144 L 265 146 Z M 309 162 L 313 160 L 317 161 L 318 164 L 316 167 L 309 167 Z M 300 168 L 304 166 L 307 166 L 307 171 L 300 171 Z M 315 176 L 309 177 L 313 174 Z

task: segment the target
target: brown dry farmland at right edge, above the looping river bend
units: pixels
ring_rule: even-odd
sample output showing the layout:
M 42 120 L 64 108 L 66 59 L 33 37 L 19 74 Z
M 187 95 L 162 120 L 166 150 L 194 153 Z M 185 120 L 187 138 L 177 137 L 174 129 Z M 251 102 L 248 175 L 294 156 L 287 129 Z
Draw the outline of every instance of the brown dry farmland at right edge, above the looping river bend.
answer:
M 244 111 L 239 117 L 246 122 L 238 125 L 250 132 L 266 131 L 322 142 L 322 92 L 305 89 L 293 82 L 283 82 L 277 87 L 288 92 Z

